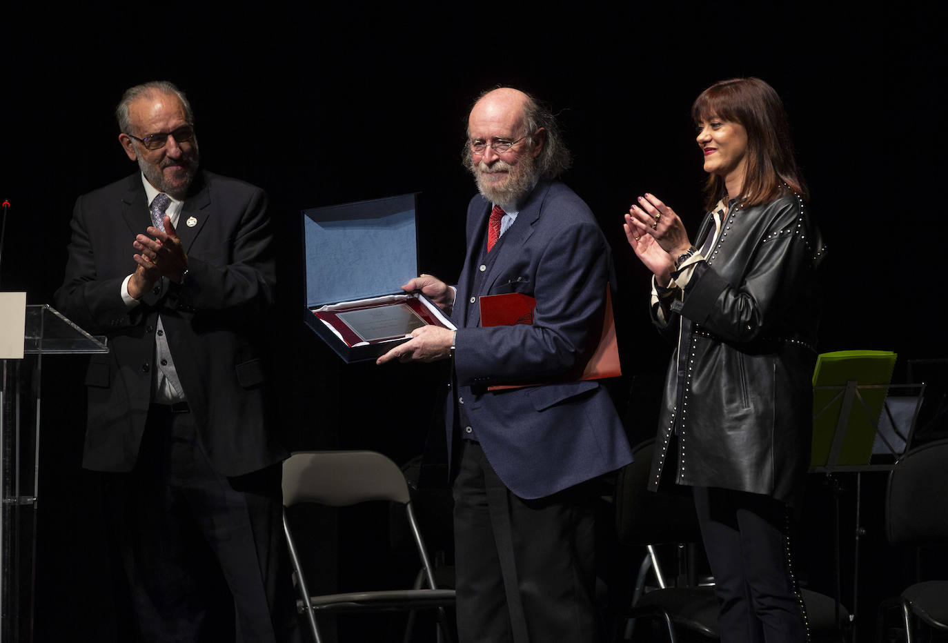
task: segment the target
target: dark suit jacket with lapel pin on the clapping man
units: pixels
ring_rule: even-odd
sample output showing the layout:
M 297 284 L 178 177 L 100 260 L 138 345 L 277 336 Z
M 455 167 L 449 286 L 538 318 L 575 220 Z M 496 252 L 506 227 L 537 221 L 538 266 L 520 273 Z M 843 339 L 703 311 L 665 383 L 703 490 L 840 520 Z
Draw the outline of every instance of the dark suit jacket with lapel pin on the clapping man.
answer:
M 136 264 L 132 242 L 151 225 L 141 175 L 81 196 L 57 308 L 107 355 L 90 359 L 82 464 L 129 471 L 148 415 L 158 314 L 212 466 L 239 475 L 279 462 L 267 433 L 261 321 L 273 300 L 274 256 L 266 196 L 252 185 L 200 173 L 176 228 L 189 258 L 184 284 L 160 287 L 128 309 L 119 288 Z M 196 221 L 189 226 L 188 221 Z

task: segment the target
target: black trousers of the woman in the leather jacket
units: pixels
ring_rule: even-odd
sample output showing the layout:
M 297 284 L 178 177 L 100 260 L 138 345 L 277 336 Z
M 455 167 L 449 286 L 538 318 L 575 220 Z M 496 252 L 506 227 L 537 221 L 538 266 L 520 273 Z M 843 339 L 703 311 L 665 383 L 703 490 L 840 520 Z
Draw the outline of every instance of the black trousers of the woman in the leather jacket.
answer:
M 790 508 L 769 496 L 715 487 L 694 487 L 694 496 L 720 600 L 722 643 L 806 641 Z

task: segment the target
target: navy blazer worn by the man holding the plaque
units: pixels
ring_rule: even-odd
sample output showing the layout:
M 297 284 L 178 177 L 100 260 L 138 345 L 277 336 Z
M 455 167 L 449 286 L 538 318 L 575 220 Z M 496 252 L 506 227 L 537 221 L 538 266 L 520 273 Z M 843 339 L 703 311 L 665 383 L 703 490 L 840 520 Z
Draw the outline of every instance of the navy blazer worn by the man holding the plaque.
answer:
M 459 328 L 458 390 L 447 404 L 448 447 L 464 434 L 460 398 L 504 485 L 521 498 L 539 498 L 631 462 L 611 398 L 596 381 L 499 392 L 485 387 L 564 379 L 581 369 L 602 328 L 610 251 L 593 212 L 562 183 L 539 183 L 490 253 L 498 254 L 482 262 L 489 214 L 490 203 L 475 196 L 451 314 Z M 506 292 L 537 299 L 533 324 L 480 327 L 479 298 Z

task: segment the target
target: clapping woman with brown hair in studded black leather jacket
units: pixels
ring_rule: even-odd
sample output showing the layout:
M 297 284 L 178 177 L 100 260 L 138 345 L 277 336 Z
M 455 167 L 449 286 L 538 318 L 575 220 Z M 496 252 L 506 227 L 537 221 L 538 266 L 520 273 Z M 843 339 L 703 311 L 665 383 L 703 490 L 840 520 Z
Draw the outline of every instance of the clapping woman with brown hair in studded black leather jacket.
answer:
M 721 640 L 803 641 L 790 531 L 810 459 L 823 245 L 769 84 L 715 83 L 692 117 L 709 173 L 695 244 L 649 193 L 624 226 L 653 273 L 653 322 L 677 344 L 650 485 L 693 487 Z

